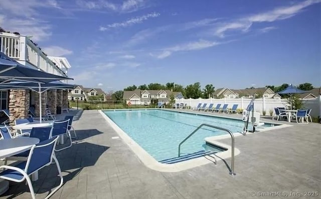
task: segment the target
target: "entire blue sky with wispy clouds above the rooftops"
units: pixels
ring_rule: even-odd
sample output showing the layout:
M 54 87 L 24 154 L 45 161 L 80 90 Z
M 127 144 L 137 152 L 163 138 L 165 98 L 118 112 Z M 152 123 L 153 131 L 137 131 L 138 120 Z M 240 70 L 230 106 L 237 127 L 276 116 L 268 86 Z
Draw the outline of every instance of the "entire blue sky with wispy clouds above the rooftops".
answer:
M 0 26 L 67 57 L 87 87 L 321 84 L 320 0 L 4 0 Z

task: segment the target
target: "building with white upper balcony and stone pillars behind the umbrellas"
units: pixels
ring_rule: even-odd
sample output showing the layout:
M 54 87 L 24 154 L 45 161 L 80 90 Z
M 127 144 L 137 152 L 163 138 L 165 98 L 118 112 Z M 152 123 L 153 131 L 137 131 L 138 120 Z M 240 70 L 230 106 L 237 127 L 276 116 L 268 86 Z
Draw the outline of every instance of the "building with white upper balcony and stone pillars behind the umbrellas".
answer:
M 28 36 L 18 32 L 10 33 L 0 27 L 0 51 L 15 59 L 19 63 L 35 67 L 48 73 L 66 76 L 71 68 L 65 57 L 53 57 L 44 53 L 41 48 Z M 68 83 L 67 80 L 63 81 Z M 56 114 L 57 107 L 68 107 L 68 90 L 48 90 L 43 93 L 42 105 L 39 104 L 37 92 L 25 90 L 0 91 L 0 108 L 10 112 L 10 122 L 14 123 L 17 118 L 27 118 L 29 107 L 34 107 L 39 114 L 39 106 L 48 107 Z M 43 109 L 45 112 L 45 109 Z M 43 113 L 44 114 L 44 113 Z

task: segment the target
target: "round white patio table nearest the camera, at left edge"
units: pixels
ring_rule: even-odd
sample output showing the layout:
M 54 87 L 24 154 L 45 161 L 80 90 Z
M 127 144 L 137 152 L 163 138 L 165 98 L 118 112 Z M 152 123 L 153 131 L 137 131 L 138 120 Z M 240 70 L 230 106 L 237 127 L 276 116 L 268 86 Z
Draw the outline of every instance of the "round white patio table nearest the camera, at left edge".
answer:
M 31 149 L 34 144 L 38 144 L 38 138 L 19 137 L 13 139 L 0 140 L 0 158 L 10 157 Z M 33 180 L 38 179 L 38 172 L 32 175 Z M 7 180 L 0 179 L 0 195 L 9 188 Z

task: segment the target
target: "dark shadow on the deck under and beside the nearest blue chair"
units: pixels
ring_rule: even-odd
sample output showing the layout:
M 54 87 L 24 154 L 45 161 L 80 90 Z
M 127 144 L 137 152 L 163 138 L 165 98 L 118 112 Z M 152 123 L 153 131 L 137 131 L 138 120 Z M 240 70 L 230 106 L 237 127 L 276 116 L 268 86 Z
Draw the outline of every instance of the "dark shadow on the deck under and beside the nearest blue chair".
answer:
M 81 173 L 84 167 L 94 166 L 99 157 L 109 148 L 109 146 L 82 142 L 73 145 L 69 149 L 63 150 L 61 152 L 56 152 L 56 156 L 64 178 L 63 185 L 68 183 L 68 181 L 76 178 L 78 174 Z M 57 166 L 55 163 L 52 163 L 51 165 L 39 170 L 39 179 L 33 182 L 33 187 L 36 194 L 47 193 L 48 195 L 59 184 L 60 177 L 58 176 Z M 30 190 L 25 182 L 17 183 L 10 181 L 9 190 L 2 196 L 14 198 L 18 195 L 26 193 L 28 198 L 31 197 L 31 195 L 28 195 L 30 194 Z

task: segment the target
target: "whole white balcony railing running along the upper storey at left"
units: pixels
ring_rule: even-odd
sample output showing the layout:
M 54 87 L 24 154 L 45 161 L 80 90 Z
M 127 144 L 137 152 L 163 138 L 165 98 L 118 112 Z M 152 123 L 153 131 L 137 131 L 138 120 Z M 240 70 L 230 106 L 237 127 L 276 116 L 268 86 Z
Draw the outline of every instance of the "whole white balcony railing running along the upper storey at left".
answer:
M 0 50 L 11 58 L 46 72 L 67 76 L 28 37 L 0 32 Z

